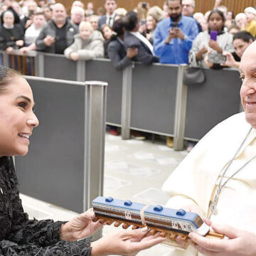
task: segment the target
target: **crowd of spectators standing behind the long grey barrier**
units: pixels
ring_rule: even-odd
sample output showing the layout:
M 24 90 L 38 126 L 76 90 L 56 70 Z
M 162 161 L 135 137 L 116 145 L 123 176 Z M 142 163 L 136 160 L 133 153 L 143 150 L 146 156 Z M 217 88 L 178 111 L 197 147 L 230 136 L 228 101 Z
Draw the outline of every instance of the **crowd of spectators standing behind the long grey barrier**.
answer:
M 110 58 L 117 70 L 132 61 L 238 68 L 256 36 L 256 9 L 248 6 L 235 16 L 222 1 L 215 0 L 206 14 L 194 13 L 194 0 L 169 0 L 162 8 L 139 2 L 132 10 L 104 0 L 97 11 L 92 2 L 73 1 L 68 16 L 55 0 L 4 0 L 0 50 L 39 50 L 74 61 Z M 118 134 L 114 127 L 110 132 Z M 167 138 L 166 144 L 173 146 L 173 140 Z M 193 146 L 188 143 L 188 151 Z

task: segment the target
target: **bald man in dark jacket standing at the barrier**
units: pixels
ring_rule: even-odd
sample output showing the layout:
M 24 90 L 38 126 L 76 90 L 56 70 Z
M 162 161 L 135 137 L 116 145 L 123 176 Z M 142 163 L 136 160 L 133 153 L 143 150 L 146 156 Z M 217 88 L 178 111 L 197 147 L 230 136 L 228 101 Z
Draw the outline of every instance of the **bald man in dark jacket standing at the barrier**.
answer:
M 76 33 L 78 29 L 68 21 L 63 4 L 55 4 L 53 19 L 43 27 L 36 39 L 36 48 L 46 53 L 63 54 L 65 48 L 73 43 Z

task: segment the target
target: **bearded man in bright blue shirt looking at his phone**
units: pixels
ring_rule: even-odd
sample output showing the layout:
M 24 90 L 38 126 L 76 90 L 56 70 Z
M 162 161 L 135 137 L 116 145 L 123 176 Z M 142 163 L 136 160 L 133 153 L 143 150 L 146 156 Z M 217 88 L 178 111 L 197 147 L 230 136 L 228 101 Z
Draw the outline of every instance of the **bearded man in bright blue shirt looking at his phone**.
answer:
M 183 16 L 181 0 L 167 1 L 170 18 L 164 18 L 156 26 L 154 53 L 160 63 L 188 63 L 188 52 L 198 34 L 193 18 Z

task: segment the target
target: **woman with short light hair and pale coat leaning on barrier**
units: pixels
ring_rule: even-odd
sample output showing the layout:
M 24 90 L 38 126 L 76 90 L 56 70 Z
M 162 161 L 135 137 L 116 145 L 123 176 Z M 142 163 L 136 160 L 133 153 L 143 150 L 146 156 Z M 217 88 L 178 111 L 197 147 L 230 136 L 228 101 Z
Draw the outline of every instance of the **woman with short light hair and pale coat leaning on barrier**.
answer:
M 79 34 L 74 36 L 75 42 L 64 50 L 66 58 L 71 60 L 92 60 L 103 58 L 102 34 L 94 31 L 89 21 L 82 21 L 79 25 Z

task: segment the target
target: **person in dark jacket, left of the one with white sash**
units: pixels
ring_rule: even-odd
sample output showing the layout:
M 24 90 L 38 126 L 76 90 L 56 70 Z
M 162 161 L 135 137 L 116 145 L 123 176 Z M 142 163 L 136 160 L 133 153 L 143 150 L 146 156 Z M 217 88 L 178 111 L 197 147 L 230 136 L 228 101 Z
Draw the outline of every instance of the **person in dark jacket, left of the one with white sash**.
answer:
M 124 48 L 124 23 L 122 18 L 114 21 L 114 36 L 110 39 L 107 47 L 107 55 L 112 61 L 114 68 L 123 70 L 132 64 L 132 58 L 138 54 L 138 48 Z

